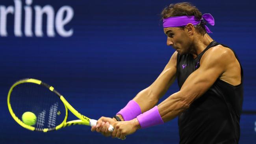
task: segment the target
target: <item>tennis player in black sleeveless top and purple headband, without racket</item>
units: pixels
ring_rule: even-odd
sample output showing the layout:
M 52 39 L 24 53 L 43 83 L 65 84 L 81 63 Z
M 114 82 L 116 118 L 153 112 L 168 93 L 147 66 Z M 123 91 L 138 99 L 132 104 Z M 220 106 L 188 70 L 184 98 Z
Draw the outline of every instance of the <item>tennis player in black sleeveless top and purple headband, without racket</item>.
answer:
M 176 52 L 160 76 L 114 118 L 102 117 L 92 131 L 124 138 L 178 116 L 180 144 L 237 144 L 243 103 L 243 70 L 234 51 L 214 41 L 210 14 L 191 4 L 162 11 L 167 45 Z M 157 105 L 177 78 L 180 90 Z M 157 106 L 156 106 L 157 105 Z M 113 133 L 107 128 L 113 125 Z

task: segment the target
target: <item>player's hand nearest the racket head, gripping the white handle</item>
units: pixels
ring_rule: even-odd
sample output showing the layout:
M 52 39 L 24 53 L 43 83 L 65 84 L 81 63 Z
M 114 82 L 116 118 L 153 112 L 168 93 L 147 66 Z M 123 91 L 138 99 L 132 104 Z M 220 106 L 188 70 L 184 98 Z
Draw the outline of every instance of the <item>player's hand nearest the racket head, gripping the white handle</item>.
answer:
M 111 135 L 111 132 L 108 131 L 109 125 L 113 125 L 116 121 L 117 120 L 115 118 L 107 118 L 102 116 L 100 119 L 98 119 L 97 125 L 91 127 L 91 131 L 97 131 L 105 137 L 109 137 Z

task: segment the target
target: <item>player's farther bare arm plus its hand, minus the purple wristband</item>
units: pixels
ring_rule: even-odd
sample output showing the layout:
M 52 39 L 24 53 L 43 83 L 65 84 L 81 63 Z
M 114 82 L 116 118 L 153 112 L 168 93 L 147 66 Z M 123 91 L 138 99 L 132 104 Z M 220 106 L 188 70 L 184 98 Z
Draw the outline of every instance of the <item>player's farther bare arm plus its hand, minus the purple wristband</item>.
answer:
M 139 104 L 142 113 L 154 107 L 158 103 L 159 99 L 169 89 L 170 85 L 174 82 L 176 78 L 176 63 L 177 52 L 174 52 L 174 54 L 171 56 L 171 59 L 169 60 L 161 74 L 158 76 L 158 78 L 154 81 L 154 83 L 152 83 L 152 85 L 142 90 L 135 96 L 133 100 Z M 117 114 L 117 116 L 122 121 L 124 121 L 121 114 Z M 99 125 L 97 127 L 92 127 L 91 131 L 101 131 L 103 135 L 109 136 L 110 133 L 107 131 L 108 124 L 103 126 L 105 124 L 104 122 L 113 123 L 116 121 L 117 120 L 115 118 L 111 119 L 101 117 L 98 120 Z

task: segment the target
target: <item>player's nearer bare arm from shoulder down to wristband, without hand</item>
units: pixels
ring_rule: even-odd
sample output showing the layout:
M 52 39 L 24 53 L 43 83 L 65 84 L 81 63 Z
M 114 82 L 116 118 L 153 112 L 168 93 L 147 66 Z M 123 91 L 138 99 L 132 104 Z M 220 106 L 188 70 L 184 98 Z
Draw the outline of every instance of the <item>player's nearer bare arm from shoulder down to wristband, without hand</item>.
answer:
M 235 63 L 234 59 L 234 54 L 226 48 L 208 50 L 201 59 L 200 67 L 186 79 L 180 91 L 158 105 L 163 121 L 175 118 L 202 96 L 217 78 L 230 71 Z M 237 75 L 240 75 L 239 72 L 236 72 Z

